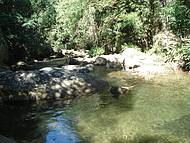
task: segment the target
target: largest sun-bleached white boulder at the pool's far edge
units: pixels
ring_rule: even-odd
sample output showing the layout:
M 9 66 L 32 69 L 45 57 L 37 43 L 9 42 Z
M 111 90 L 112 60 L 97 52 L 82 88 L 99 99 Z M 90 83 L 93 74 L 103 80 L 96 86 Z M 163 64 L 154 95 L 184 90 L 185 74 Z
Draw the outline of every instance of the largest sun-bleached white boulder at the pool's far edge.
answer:
M 142 53 L 128 48 L 122 53 L 123 66 L 126 71 L 134 71 L 141 75 L 157 74 L 169 71 L 169 67 L 155 54 Z

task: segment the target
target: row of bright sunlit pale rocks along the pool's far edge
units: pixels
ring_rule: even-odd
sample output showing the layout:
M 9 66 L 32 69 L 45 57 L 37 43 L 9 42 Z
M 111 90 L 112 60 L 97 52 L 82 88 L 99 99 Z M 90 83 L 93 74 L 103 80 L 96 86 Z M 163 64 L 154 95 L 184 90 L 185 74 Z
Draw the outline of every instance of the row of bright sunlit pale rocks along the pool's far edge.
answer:
M 163 57 L 142 53 L 133 48 L 128 48 L 121 54 L 99 56 L 96 58 L 95 64 L 106 68 L 123 69 L 141 76 L 178 70 L 182 66 L 180 65 L 182 63 L 166 63 Z

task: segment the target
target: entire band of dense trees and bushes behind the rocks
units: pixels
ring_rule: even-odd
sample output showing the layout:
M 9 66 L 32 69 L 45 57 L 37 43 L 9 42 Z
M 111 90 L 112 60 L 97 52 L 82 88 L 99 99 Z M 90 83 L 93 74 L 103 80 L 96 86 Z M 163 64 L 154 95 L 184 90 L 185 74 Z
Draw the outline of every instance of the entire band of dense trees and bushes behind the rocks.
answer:
M 190 67 L 187 0 L 0 0 L 0 19 L 6 64 L 41 60 L 52 49 L 94 56 L 139 47 Z

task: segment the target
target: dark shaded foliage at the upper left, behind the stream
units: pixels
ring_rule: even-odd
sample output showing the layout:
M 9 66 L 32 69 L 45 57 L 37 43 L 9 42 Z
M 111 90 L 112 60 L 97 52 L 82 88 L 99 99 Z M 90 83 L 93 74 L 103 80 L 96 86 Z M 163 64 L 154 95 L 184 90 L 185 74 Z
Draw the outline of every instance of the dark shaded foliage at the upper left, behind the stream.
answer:
M 8 48 L 5 64 L 12 65 L 19 60 L 42 60 L 52 54 L 52 48 L 35 25 L 25 26 L 33 12 L 30 0 L 0 1 L 0 32 Z

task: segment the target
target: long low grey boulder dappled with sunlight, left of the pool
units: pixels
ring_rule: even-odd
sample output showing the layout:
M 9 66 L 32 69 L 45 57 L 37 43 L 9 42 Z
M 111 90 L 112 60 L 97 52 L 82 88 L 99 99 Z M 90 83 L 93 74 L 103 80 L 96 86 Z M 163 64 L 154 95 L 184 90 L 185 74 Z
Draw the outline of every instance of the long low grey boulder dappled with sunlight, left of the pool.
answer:
M 73 98 L 108 87 L 107 82 L 87 73 L 90 68 L 46 67 L 4 72 L 0 74 L 0 97 L 3 101 Z

